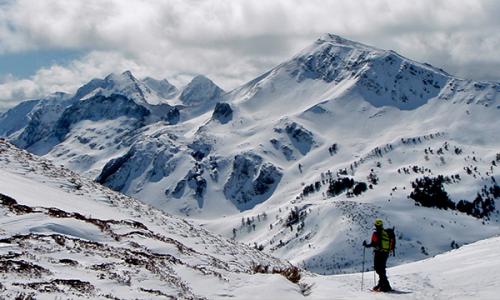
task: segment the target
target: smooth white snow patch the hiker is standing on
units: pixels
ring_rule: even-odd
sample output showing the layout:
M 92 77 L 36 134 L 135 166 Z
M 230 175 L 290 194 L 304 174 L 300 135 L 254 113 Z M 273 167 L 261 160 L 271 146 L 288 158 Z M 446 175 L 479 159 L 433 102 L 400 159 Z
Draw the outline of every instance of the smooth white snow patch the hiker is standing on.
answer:
M 313 299 L 497 299 L 500 266 L 495 237 L 464 246 L 433 258 L 389 268 L 387 274 L 399 294 L 367 291 L 373 286 L 373 272 L 316 276 L 311 284 Z M 389 259 L 390 260 L 390 259 Z

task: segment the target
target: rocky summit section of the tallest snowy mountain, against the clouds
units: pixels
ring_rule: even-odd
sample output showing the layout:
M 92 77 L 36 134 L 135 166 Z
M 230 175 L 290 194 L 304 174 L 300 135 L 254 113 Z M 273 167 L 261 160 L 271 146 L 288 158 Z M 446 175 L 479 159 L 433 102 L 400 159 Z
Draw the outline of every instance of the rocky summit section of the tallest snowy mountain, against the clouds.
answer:
M 335 95 L 353 91 L 375 107 L 393 106 L 403 110 L 415 109 L 437 97 L 452 78 L 443 70 L 394 51 L 325 34 L 292 59 L 232 92 L 231 97 L 245 101 L 261 99 L 254 96 L 264 94 L 262 91 L 266 88 L 278 94 L 276 83 L 288 82 L 290 77 L 305 85 L 316 81 L 314 84 L 322 85 L 325 91 Z M 286 86 L 287 90 L 282 93 L 288 93 L 294 83 Z

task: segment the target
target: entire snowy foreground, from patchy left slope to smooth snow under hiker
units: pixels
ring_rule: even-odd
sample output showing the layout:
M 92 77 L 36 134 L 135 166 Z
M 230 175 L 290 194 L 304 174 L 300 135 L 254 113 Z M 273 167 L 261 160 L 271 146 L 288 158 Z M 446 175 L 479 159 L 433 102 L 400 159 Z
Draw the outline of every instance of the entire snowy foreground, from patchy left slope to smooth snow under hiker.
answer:
M 373 297 L 373 272 L 311 274 L 3 140 L 0 154 L 1 298 Z M 495 299 L 499 246 L 496 237 L 389 268 L 389 279 L 398 298 Z

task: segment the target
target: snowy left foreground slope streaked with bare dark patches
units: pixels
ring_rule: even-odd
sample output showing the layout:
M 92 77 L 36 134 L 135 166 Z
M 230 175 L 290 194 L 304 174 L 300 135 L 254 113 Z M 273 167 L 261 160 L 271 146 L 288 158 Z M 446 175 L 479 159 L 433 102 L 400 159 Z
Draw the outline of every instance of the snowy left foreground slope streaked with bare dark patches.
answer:
M 291 268 L 0 141 L 0 297 L 229 297 Z M 267 282 L 267 283 L 266 283 Z M 241 295 L 241 294 L 240 294 Z M 262 294 L 261 294 L 262 295 Z

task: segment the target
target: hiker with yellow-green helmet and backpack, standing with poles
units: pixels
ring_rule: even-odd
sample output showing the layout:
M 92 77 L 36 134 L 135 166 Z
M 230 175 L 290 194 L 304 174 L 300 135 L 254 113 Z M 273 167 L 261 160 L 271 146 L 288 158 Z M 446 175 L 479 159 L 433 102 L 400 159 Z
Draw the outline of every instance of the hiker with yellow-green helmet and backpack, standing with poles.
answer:
M 387 258 L 389 258 L 389 251 L 393 246 L 391 246 L 391 238 L 386 230 L 384 230 L 383 222 L 381 219 L 375 219 L 374 222 L 375 231 L 372 234 L 372 240 L 370 244 L 363 241 L 363 246 L 370 248 L 373 247 L 373 266 L 375 272 L 377 272 L 379 281 L 376 286 L 373 287 L 374 291 L 378 292 L 388 292 L 391 291 L 391 285 L 387 280 L 387 275 L 385 273 Z

